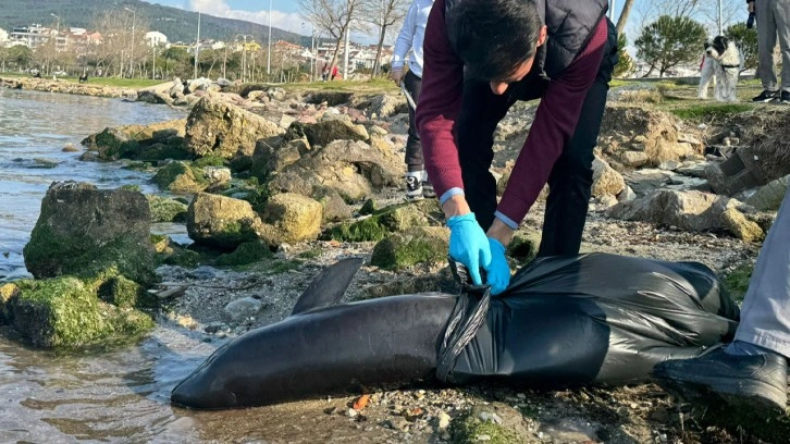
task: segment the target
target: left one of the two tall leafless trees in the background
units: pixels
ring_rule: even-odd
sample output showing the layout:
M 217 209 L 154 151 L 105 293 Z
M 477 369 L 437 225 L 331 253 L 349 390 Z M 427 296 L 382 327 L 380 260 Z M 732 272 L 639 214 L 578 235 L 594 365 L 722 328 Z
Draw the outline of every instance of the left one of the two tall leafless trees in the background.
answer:
M 330 66 L 335 64 L 346 32 L 360 28 L 365 0 L 298 0 L 300 14 L 335 40 Z M 344 73 L 346 75 L 348 73 Z

